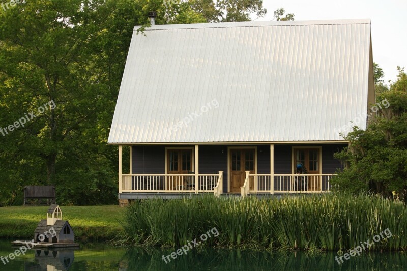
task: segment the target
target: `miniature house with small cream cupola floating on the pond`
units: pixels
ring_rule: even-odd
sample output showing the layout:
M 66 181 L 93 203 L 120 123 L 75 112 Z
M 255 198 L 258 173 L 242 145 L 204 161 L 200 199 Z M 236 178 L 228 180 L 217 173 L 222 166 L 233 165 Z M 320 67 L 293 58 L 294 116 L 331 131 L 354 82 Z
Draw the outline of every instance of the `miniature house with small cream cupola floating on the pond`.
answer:
M 34 240 L 44 243 L 72 244 L 74 232 L 68 221 L 62 220 L 62 211 L 56 204 L 49 206 L 47 219 L 38 223 L 34 231 Z

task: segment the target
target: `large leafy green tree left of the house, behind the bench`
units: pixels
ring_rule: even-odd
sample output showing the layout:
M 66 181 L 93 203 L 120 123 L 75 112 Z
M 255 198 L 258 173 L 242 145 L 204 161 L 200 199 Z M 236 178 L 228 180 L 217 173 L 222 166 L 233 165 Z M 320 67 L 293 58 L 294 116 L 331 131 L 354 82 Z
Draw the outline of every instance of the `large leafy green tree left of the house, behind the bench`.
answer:
M 83 200 L 101 194 L 111 202 L 114 175 L 100 170 L 108 159 L 95 141 L 99 110 L 112 96 L 99 85 L 106 73 L 90 72 L 103 3 L 33 0 L 0 15 L 2 124 L 35 115 L 2 138 L 0 161 L 8 165 L 2 180 L 14 184 L 10 195 L 27 184 L 54 184 L 67 203 L 78 199 L 69 191 L 79 185 Z

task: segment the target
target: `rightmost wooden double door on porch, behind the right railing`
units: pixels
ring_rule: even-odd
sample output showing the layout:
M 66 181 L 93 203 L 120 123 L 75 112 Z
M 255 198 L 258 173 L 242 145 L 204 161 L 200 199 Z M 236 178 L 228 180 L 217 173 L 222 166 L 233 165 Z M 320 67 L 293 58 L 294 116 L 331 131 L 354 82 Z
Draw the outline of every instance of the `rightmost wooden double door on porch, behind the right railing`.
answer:
M 294 149 L 294 172 L 302 174 L 319 174 L 319 149 L 318 148 L 298 148 Z M 297 165 L 304 165 L 303 172 L 297 172 Z M 304 181 L 303 179 L 301 179 Z M 294 190 L 318 191 L 319 176 L 307 176 L 306 184 L 297 184 Z

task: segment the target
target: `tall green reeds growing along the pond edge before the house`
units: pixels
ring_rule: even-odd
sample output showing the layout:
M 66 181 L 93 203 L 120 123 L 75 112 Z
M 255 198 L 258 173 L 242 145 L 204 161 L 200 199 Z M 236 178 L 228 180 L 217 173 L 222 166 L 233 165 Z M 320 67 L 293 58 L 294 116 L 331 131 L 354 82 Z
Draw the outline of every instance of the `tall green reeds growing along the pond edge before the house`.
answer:
M 407 249 L 406 206 L 371 195 L 138 201 L 123 227 L 121 242 L 142 246 L 183 246 L 216 227 L 219 235 L 205 245 L 345 251 L 382 233 L 369 250 Z

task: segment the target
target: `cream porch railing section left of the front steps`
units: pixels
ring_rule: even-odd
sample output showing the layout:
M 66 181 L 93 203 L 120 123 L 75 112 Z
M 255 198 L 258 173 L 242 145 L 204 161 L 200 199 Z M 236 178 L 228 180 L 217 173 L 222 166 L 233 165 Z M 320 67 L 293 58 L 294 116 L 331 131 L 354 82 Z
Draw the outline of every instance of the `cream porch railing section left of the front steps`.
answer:
M 219 174 L 198 174 L 198 190 L 195 174 L 122 174 L 119 193 L 214 193 L 223 179 Z

